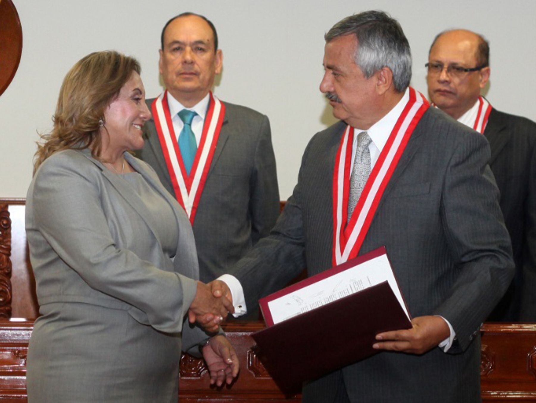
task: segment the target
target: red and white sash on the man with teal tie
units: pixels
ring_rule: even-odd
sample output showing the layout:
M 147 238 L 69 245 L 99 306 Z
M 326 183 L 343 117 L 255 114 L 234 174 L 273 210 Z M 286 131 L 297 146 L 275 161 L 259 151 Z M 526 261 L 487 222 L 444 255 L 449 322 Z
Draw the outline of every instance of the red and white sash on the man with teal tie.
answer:
M 189 176 L 184 168 L 177 137 L 173 130 L 167 91 L 164 91 L 154 100 L 151 109 L 175 196 L 193 225 L 199 199 L 205 187 L 212 157 L 218 144 L 221 125 L 224 123 L 225 105 L 212 95 L 212 92 L 210 93 L 209 110 L 205 117 L 203 134 Z

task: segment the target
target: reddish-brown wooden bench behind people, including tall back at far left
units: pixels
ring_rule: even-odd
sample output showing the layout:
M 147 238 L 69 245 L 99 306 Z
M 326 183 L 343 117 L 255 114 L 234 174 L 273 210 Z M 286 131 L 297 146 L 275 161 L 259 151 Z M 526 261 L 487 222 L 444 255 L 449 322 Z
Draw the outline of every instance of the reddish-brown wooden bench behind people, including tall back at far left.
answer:
M 0 199 L 0 402 L 25 402 L 26 355 L 38 315 L 35 281 L 24 230 L 24 199 Z M 180 401 L 222 403 L 301 401 L 278 389 L 251 347 L 261 322 L 224 326 L 239 355 L 241 372 L 232 387 L 210 387 L 202 360 L 184 355 Z M 486 402 L 536 402 L 536 324 L 482 326 L 481 390 Z

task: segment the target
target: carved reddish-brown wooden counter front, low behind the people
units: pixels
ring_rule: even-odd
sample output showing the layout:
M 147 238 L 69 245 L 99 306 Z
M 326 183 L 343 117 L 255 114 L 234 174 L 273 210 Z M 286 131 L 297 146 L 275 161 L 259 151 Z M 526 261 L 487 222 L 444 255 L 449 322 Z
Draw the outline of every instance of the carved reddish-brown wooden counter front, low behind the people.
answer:
M 180 380 L 181 402 L 301 400 L 300 395 L 282 395 L 272 379 L 264 377 L 262 364 L 255 364 L 251 333 L 263 329 L 262 323 L 227 324 L 225 328 L 239 355 L 242 368 L 239 378 L 230 387 L 211 387 L 209 375 L 201 369 L 202 361 L 186 355 L 181 360 L 181 374 L 191 377 Z M 0 319 L 0 401 L 26 401 L 26 354 L 32 329 L 32 320 Z M 482 345 L 482 369 L 493 368 L 482 377 L 482 401 L 536 402 L 536 324 L 485 324 Z M 255 374 L 257 370 L 259 373 Z

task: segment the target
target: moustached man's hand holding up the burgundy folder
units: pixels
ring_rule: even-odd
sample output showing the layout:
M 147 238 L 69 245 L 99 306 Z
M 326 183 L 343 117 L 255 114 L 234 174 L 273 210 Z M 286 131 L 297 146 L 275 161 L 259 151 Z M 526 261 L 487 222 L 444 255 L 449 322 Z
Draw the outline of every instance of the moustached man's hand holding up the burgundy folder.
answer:
M 424 354 L 437 347 L 449 337 L 450 329 L 445 320 L 439 316 L 419 316 L 413 318 L 412 329 L 394 330 L 376 334 L 373 345 L 376 349 L 400 351 L 411 354 Z

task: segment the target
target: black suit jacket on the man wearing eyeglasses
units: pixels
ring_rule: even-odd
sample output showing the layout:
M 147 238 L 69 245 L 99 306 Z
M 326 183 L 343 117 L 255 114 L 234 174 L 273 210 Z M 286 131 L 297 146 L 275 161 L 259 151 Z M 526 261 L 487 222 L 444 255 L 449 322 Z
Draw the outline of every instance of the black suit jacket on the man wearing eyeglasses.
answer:
M 536 123 L 493 109 L 484 131 L 516 275 L 488 320 L 536 322 Z

